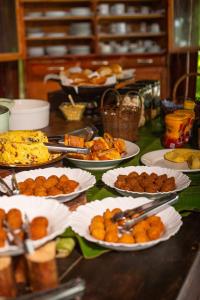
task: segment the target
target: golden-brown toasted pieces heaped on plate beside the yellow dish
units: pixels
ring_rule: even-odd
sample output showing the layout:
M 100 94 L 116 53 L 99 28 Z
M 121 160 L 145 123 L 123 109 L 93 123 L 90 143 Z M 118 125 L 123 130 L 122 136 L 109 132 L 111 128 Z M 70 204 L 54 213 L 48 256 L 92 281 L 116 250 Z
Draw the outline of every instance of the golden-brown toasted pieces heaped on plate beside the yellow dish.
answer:
M 114 139 L 109 133 L 104 133 L 103 137 L 89 142 L 85 142 L 82 137 L 66 134 L 64 144 L 73 147 L 89 148 L 89 154 L 68 153 L 68 157 L 84 160 L 120 159 L 126 152 L 125 141 L 120 138 Z

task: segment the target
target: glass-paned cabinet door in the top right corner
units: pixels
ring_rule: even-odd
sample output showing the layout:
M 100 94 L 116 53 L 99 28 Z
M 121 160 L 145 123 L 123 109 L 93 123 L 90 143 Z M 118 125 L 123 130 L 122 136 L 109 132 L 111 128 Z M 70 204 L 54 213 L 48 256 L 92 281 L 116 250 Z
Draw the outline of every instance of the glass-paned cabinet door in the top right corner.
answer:
M 200 49 L 200 0 L 168 0 L 169 51 Z

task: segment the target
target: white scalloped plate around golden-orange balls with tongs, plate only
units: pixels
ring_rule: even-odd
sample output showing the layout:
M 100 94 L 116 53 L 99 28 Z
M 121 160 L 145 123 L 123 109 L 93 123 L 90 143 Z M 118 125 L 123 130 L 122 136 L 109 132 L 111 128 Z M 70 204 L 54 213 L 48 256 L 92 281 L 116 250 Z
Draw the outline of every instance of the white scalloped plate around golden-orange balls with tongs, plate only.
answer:
M 101 201 L 92 201 L 86 205 L 78 207 L 78 209 L 70 215 L 69 223 L 72 229 L 80 236 L 103 247 L 119 251 L 146 249 L 158 244 L 159 242 L 168 240 L 171 236 L 175 235 L 178 232 L 179 228 L 182 225 L 182 221 L 180 214 L 173 207 L 169 206 L 158 214 L 165 225 L 164 234 L 161 236 L 161 238 L 146 243 L 122 244 L 100 241 L 90 235 L 89 225 L 91 223 L 91 219 L 95 215 L 102 215 L 107 208 L 112 210 L 118 207 L 122 210 L 125 210 L 137 207 L 149 201 L 150 200 L 145 197 L 135 199 L 132 197 L 109 197 Z

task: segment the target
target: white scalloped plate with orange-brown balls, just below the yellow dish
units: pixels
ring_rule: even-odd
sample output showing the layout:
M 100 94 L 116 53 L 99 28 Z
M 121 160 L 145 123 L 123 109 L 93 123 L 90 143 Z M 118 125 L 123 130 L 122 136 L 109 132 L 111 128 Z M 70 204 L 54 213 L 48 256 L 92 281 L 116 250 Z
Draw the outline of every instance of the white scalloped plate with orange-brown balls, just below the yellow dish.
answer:
M 4 178 L 9 187 L 12 187 L 11 178 L 12 175 Z M 19 172 L 16 179 L 19 186 L 25 182 L 25 186 L 22 184 L 22 194 L 53 198 L 59 202 L 76 198 L 96 183 L 95 176 L 85 170 L 62 167 Z M 30 182 L 27 179 L 31 179 Z

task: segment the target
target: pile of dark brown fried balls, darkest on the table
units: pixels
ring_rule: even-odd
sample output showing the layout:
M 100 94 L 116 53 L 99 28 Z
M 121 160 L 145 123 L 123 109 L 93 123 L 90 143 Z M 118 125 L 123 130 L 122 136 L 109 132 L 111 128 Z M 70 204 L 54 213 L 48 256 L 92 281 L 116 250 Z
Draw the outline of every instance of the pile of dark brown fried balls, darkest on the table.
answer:
M 170 192 L 176 189 L 175 178 L 166 174 L 157 175 L 142 172 L 131 172 L 128 175 L 119 175 L 114 183 L 115 187 L 132 192 Z

